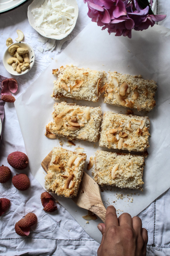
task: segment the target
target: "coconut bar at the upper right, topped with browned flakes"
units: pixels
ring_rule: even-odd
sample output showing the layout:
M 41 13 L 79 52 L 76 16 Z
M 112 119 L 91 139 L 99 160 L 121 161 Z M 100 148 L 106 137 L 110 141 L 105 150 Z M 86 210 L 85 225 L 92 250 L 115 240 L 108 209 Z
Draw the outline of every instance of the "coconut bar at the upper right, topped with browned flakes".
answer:
M 104 103 L 136 108 L 138 111 L 150 111 L 155 107 L 157 85 L 153 80 L 144 80 L 142 76 L 108 72 L 104 88 Z

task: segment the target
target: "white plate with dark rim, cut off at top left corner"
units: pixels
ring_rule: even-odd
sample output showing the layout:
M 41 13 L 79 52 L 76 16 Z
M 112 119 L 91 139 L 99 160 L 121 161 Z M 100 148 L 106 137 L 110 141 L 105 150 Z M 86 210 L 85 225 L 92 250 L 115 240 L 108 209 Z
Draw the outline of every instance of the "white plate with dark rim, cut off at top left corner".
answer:
M 28 1 L 29 0 L 0 0 L 0 13 L 9 12 Z

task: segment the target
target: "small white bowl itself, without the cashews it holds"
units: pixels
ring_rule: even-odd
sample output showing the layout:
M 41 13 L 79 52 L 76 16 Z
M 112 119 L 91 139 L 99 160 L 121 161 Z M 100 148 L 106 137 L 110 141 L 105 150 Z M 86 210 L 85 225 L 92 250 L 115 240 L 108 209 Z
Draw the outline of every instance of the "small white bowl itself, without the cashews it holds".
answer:
M 21 48 L 25 48 L 25 49 L 28 49 L 28 57 L 30 59 L 30 68 L 27 68 L 26 70 L 24 71 L 21 71 L 21 73 L 18 73 L 16 70 L 13 70 L 12 68 L 12 65 L 11 64 L 8 64 L 7 61 L 9 58 L 13 57 L 12 55 L 9 54 L 8 50 L 9 48 L 12 46 L 12 45 L 18 45 L 19 47 Z M 8 46 L 8 48 L 6 49 L 6 51 L 4 52 L 4 58 L 3 58 L 3 64 L 4 64 L 4 67 L 6 68 L 6 70 L 11 74 L 11 75 L 14 75 L 14 76 L 21 76 L 21 75 L 24 75 L 26 74 L 28 71 L 30 71 L 30 69 L 33 67 L 33 64 L 34 64 L 34 61 L 35 61 L 35 53 L 34 53 L 34 50 L 33 48 L 31 47 L 31 45 L 25 43 L 25 42 L 16 42 L 16 43 L 13 43 L 11 44 L 10 46 Z

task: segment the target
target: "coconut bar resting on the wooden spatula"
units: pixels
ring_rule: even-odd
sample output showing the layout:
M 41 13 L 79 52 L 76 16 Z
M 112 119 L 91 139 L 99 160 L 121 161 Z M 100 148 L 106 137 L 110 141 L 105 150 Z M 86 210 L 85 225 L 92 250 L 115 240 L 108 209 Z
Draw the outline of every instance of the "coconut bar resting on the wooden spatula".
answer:
M 58 196 L 76 196 L 83 175 L 86 154 L 60 147 L 53 148 L 52 152 L 48 174 L 45 176 L 45 188 Z

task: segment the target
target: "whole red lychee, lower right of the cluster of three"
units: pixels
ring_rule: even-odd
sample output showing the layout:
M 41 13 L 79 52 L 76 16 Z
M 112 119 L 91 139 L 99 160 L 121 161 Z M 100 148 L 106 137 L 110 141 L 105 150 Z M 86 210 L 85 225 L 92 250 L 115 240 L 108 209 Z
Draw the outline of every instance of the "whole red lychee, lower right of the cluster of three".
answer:
M 30 180 L 25 173 L 19 173 L 12 177 L 12 184 L 18 190 L 24 191 L 29 188 Z

